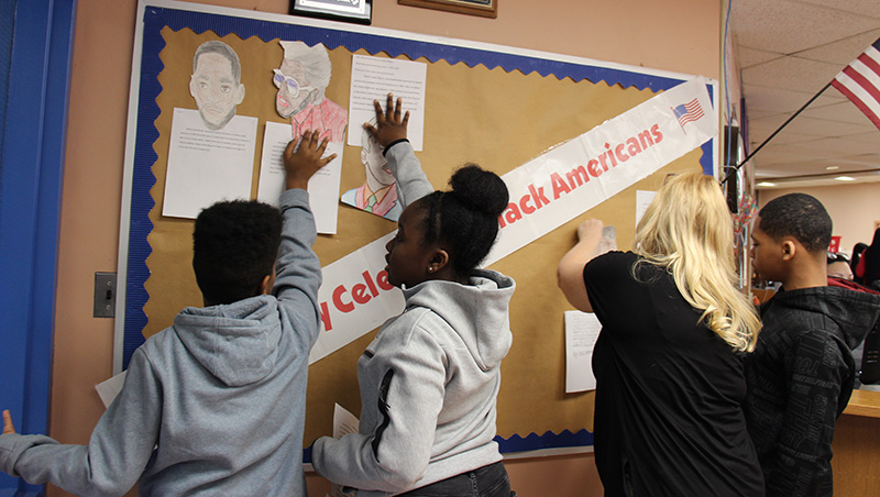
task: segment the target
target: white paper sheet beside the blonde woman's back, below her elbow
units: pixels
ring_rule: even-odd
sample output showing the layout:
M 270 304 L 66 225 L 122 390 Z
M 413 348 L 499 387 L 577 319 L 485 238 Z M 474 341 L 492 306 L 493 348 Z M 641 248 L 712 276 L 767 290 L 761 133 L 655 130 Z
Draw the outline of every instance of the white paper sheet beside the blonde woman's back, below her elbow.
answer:
M 592 312 L 565 311 L 565 393 L 595 390 L 593 347 L 602 324 Z

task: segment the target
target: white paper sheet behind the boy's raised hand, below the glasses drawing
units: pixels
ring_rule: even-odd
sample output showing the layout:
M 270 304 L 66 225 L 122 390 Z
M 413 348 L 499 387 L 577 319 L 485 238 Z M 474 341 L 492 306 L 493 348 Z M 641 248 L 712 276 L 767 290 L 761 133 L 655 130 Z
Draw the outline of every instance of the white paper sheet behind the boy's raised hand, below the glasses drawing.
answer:
M 266 122 L 256 198 L 272 206 L 278 205 L 278 198 L 284 190 L 282 154 L 290 142 L 290 124 Z M 309 179 L 309 205 L 315 214 L 318 233 L 334 234 L 337 232 L 339 184 L 342 178 L 342 148 L 344 147 L 341 142 L 328 143 L 324 155 L 337 154 L 337 158 Z

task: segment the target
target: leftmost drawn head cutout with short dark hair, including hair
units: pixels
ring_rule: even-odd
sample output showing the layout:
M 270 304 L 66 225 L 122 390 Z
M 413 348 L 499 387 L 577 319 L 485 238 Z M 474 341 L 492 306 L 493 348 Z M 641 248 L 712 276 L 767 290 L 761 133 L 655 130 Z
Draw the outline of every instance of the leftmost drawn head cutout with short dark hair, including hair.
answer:
M 235 117 L 235 107 L 244 100 L 244 85 L 232 47 L 218 41 L 199 45 L 193 56 L 189 95 L 209 130 L 220 130 Z

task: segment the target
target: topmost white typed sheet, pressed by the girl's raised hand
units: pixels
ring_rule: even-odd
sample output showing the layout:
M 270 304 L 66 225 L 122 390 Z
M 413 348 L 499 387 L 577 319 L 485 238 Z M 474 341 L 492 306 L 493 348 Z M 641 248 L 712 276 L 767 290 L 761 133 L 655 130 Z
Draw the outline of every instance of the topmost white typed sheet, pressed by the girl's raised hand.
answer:
M 349 97 L 349 145 L 361 146 L 363 124 L 375 119 L 373 100 L 382 108 L 388 92 L 404 99 L 404 111 L 409 111 L 407 139 L 413 148 L 422 150 L 425 135 L 425 84 L 428 65 L 396 58 L 352 55 L 351 92 Z M 374 121 L 375 122 L 375 121 Z

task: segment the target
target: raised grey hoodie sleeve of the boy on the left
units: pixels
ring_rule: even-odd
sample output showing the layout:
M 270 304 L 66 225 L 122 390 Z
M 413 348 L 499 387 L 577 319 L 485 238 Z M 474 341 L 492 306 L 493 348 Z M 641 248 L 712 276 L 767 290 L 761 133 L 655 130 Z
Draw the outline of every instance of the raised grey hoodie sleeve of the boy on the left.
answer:
M 305 341 L 302 345 L 308 350 L 320 331 L 318 288 L 321 286 L 321 263 L 311 250 L 317 231 L 308 191 L 299 188 L 284 191 L 280 209 L 284 228 L 273 292 L 284 309 L 284 318 L 298 331 L 298 339 Z

